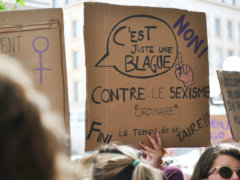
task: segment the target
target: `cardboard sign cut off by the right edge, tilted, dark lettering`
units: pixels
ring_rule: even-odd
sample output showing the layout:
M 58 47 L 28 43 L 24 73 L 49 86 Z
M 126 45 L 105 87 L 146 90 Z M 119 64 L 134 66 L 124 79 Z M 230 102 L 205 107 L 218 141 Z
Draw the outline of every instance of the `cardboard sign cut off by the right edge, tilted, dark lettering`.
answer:
M 217 71 L 233 139 L 240 140 L 240 72 Z

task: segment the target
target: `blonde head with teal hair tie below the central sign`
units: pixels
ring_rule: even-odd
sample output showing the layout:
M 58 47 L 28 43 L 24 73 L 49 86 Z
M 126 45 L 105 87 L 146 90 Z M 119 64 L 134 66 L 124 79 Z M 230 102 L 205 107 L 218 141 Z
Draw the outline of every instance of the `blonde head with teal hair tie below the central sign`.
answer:
M 141 152 L 127 145 L 105 145 L 83 157 L 80 164 L 89 169 L 93 180 L 162 180 L 160 170 L 146 164 Z

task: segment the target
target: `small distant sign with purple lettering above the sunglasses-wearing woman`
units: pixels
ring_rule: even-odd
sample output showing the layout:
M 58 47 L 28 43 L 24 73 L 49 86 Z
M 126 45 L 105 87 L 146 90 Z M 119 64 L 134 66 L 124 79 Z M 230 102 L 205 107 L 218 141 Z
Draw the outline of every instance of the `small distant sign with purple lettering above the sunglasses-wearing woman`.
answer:
M 211 142 L 219 144 L 231 139 L 232 134 L 226 115 L 210 116 Z

